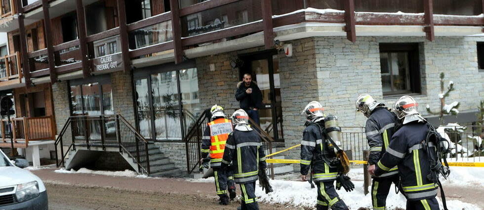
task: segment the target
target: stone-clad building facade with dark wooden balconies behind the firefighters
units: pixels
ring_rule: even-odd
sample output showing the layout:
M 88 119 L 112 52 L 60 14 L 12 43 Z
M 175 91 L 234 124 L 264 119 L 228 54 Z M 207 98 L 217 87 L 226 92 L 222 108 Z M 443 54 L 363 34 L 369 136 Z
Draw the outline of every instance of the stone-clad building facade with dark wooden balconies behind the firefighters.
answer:
M 211 105 L 239 108 L 235 91 L 244 73 L 263 94 L 261 128 L 284 147 L 300 142 L 301 111 L 313 100 L 340 126 L 361 127 L 354 111 L 361 93 L 388 106 L 412 95 L 435 120 L 423 107 L 440 107 L 442 72 L 455 86 L 447 100 L 461 103 L 447 123 L 472 124 L 484 98 L 478 0 L 2 3 L 10 10 L 0 14 L 0 32 L 8 34 L 1 59 L 9 68 L 0 72 L 0 89 L 12 93 L 15 117 L 52 119 L 51 132 L 64 142 L 53 146 L 60 161 L 81 150 L 75 146 L 119 147 L 135 169 L 186 171 L 187 158 L 197 156 L 188 155 L 187 136 Z M 123 132 L 134 136 L 126 141 L 136 149 L 122 142 Z

